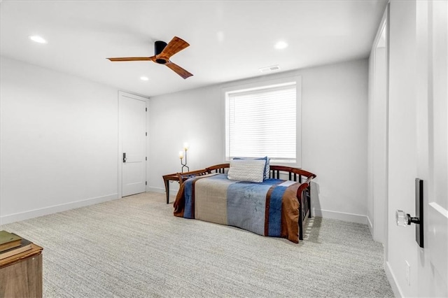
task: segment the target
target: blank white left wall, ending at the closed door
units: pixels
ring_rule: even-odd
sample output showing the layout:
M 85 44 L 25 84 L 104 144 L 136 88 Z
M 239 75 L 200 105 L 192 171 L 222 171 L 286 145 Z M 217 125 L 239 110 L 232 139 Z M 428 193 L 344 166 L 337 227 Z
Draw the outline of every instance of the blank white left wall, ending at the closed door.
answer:
M 118 91 L 1 57 L 0 223 L 117 197 Z

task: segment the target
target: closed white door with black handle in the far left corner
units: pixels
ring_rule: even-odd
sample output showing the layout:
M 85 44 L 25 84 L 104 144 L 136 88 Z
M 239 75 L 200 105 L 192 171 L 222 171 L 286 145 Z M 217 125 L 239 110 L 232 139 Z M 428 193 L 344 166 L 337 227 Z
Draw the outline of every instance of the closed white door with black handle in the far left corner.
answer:
M 122 197 L 146 191 L 146 99 L 120 92 Z

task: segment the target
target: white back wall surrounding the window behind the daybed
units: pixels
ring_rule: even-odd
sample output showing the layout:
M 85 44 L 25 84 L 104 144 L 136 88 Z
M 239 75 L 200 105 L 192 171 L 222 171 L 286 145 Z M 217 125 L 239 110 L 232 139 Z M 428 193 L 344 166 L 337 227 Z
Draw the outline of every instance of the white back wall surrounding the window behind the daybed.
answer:
M 360 59 L 151 97 L 148 189 L 164 192 L 162 175 L 181 170 L 184 141 L 191 170 L 224 162 L 224 87 L 302 76 L 302 168 L 318 176 L 314 213 L 367 223 L 367 64 Z M 170 187 L 175 194 L 177 183 Z

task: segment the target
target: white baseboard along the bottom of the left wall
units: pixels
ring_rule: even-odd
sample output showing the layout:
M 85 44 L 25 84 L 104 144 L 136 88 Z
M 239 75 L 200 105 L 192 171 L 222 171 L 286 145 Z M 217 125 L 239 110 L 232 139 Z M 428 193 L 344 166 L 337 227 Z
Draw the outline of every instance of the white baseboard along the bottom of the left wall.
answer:
M 38 218 L 39 216 L 48 215 L 52 213 L 58 213 L 62 211 L 67 211 L 70 209 L 80 208 L 83 206 L 89 206 L 93 204 L 102 203 L 104 201 L 111 201 L 113 199 L 118 199 L 118 194 L 107 194 L 102 197 L 94 197 L 90 199 L 83 199 L 80 201 L 72 201 L 66 204 L 59 204 L 39 209 L 34 209 L 30 211 L 14 213 L 9 215 L 3 215 L 0 217 L 0 224 L 6 225 L 11 222 L 18 222 L 20 220 L 29 220 L 30 218 Z

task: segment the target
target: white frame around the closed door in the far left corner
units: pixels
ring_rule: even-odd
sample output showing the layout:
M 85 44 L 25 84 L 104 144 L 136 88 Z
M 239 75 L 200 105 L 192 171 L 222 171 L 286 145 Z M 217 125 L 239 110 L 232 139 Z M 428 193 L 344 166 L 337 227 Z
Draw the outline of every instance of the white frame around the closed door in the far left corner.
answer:
M 145 101 L 146 102 L 146 112 L 148 112 L 148 106 L 149 106 L 149 97 L 144 97 L 138 94 L 132 94 L 129 92 L 125 92 L 125 91 L 118 91 L 118 152 L 117 152 L 117 161 L 118 161 L 118 199 L 121 199 L 123 197 L 123 178 L 122 178 L 122 174 L 123 174 L 123 157 L 122 157 L 122 152 L 123 152 L 123 135 L 121 133 L 121 99 L 123 97 L 129 97 L 132 99 L 137 99 L 140 101 Z M 146 131 L 148 131 L 148 113 L 146 113 Z M 148 156 L 148 140 L 149 140 L 149 136 L 146 136 L 146 156 Z M 146 179 L 148 179 L 148 161 L 146 161 L 146 166 L 145 166 L 145 176 Z M 148 185 L 146 185 L 145 187 L 145 191 L 148 191 Z

